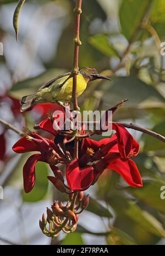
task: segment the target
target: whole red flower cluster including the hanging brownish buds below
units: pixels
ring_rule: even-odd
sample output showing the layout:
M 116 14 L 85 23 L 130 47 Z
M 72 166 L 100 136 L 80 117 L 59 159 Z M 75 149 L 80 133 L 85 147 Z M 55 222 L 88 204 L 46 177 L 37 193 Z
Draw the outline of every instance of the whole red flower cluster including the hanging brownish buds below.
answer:
M 121 103 L 111 108 L 111 111 L 114 112 L 120 105 Z M 61 114 L 64 115 L 65 111 Z M 71 202 L 64 206 L 62 202 L 54 201 L 52 211 L 47 209 L 47 218 L 43 215 L 40 221 L 42 232 L 52 237 L 61 230 L 75 230 L 78 215 L 89 203 L 89 196 L 84 196 L 83 191 L 94 185 L 105 169 L 116 171 L 130 186 L 142 186 L 139 170 L 131 159 L 138 155 L 139 143 L 122 125 L 113 122 L 112 129 L 115 133 L 97 141 L 90 137 L 92 134 L 101 134 L 101 129 L 87 131 L 87 128 L 80 126 L 76 132 L 72 128 L 62 130 L 57 119 L 57 116 L 49 114 L 35 126 L 38 130 L 51 133 L 52 140 L 26 129 L 24 137 L 13 146 L 16 153 L 39 152 L 31 155 L 24 165 L 25 192 L 30 192 L 34 187 L 35 165 L 37 161 L 43 161 L 53 171 L 54 176 L 48 176 L 48 179 L 56 189 L 69 195 Z M 71 112 L 69 121 L 73 121 Z M 74 155 L 75 141 L 78 142 L 77 156 Z M 65 174 L 58 164 L 65 165 Z M 47 229 L 47 222 L 50 229 Z

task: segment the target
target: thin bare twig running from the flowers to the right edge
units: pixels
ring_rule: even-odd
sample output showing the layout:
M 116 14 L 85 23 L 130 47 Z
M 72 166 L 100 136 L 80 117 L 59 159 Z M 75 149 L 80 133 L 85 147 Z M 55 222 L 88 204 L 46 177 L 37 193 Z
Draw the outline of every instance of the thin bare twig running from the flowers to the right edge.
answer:
M 161 134 L 158 134 L 156 132 L 153 132 L 152 130 L 149 130 L 149 129 L 145 129 L 145 128 L 142 128 L 140 126 L 137 126 L 136 124 L 133 124 L 133 123 L 120 123 L 120 122 L 114 122 L 114 123 L 117 123 L 117 124 L 121 124 L 122 126 L 126 127 L 126 128 L 130 128 L 130 129 L 134 129 L 134 130 L 139 130 L 139 132 L 142 132 L 142 133 L 146 133 L 152 137 L 155 137 L 156 139 L 159 139 L 161 140 L 162 142 L 165 142 L 165 137 Z

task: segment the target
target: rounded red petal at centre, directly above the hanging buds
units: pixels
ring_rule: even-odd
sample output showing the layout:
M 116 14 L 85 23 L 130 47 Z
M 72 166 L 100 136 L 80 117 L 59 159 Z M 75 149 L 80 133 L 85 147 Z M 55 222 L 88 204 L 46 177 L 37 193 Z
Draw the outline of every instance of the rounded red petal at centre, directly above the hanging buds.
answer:
M 86 190 L 94 180 L 94 168 L 89 165 L 79 168 L 78 159 L 75 159 L 68 165 L 66 177 L 71 190 Z

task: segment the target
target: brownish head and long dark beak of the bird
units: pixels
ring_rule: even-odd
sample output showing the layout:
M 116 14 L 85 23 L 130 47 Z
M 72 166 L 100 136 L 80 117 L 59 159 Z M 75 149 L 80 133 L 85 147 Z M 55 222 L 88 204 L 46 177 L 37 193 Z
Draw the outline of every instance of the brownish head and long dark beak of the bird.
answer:
M 89 79 L 89 81 L 93 81 L 96 79 L 106 79 L 111 80 L 106 76 L 99 75 L 94 67 L 81 67 L 80 74 L 85 78 Z

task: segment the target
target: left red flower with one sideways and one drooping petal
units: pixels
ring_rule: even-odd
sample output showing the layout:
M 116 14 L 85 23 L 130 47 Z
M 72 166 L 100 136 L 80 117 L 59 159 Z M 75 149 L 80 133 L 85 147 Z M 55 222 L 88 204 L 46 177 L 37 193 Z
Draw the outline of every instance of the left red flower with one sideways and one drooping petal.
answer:
M 61 158 L 61 151 L 52 140 L 46 139 L 34 132 L 29 132 L 25 137 L 14 144 L 13 150 L 16 153 L 27 153 L 40 151 L 41 154 L 34 154 L 27 159 L 23 168 L 24 189 L 30 192 L 35 185 L 35 165 L 37 161 L 43 161 L 50 165 L 56 165 Z M 58 154 L 59 153 L 59 154 Z

